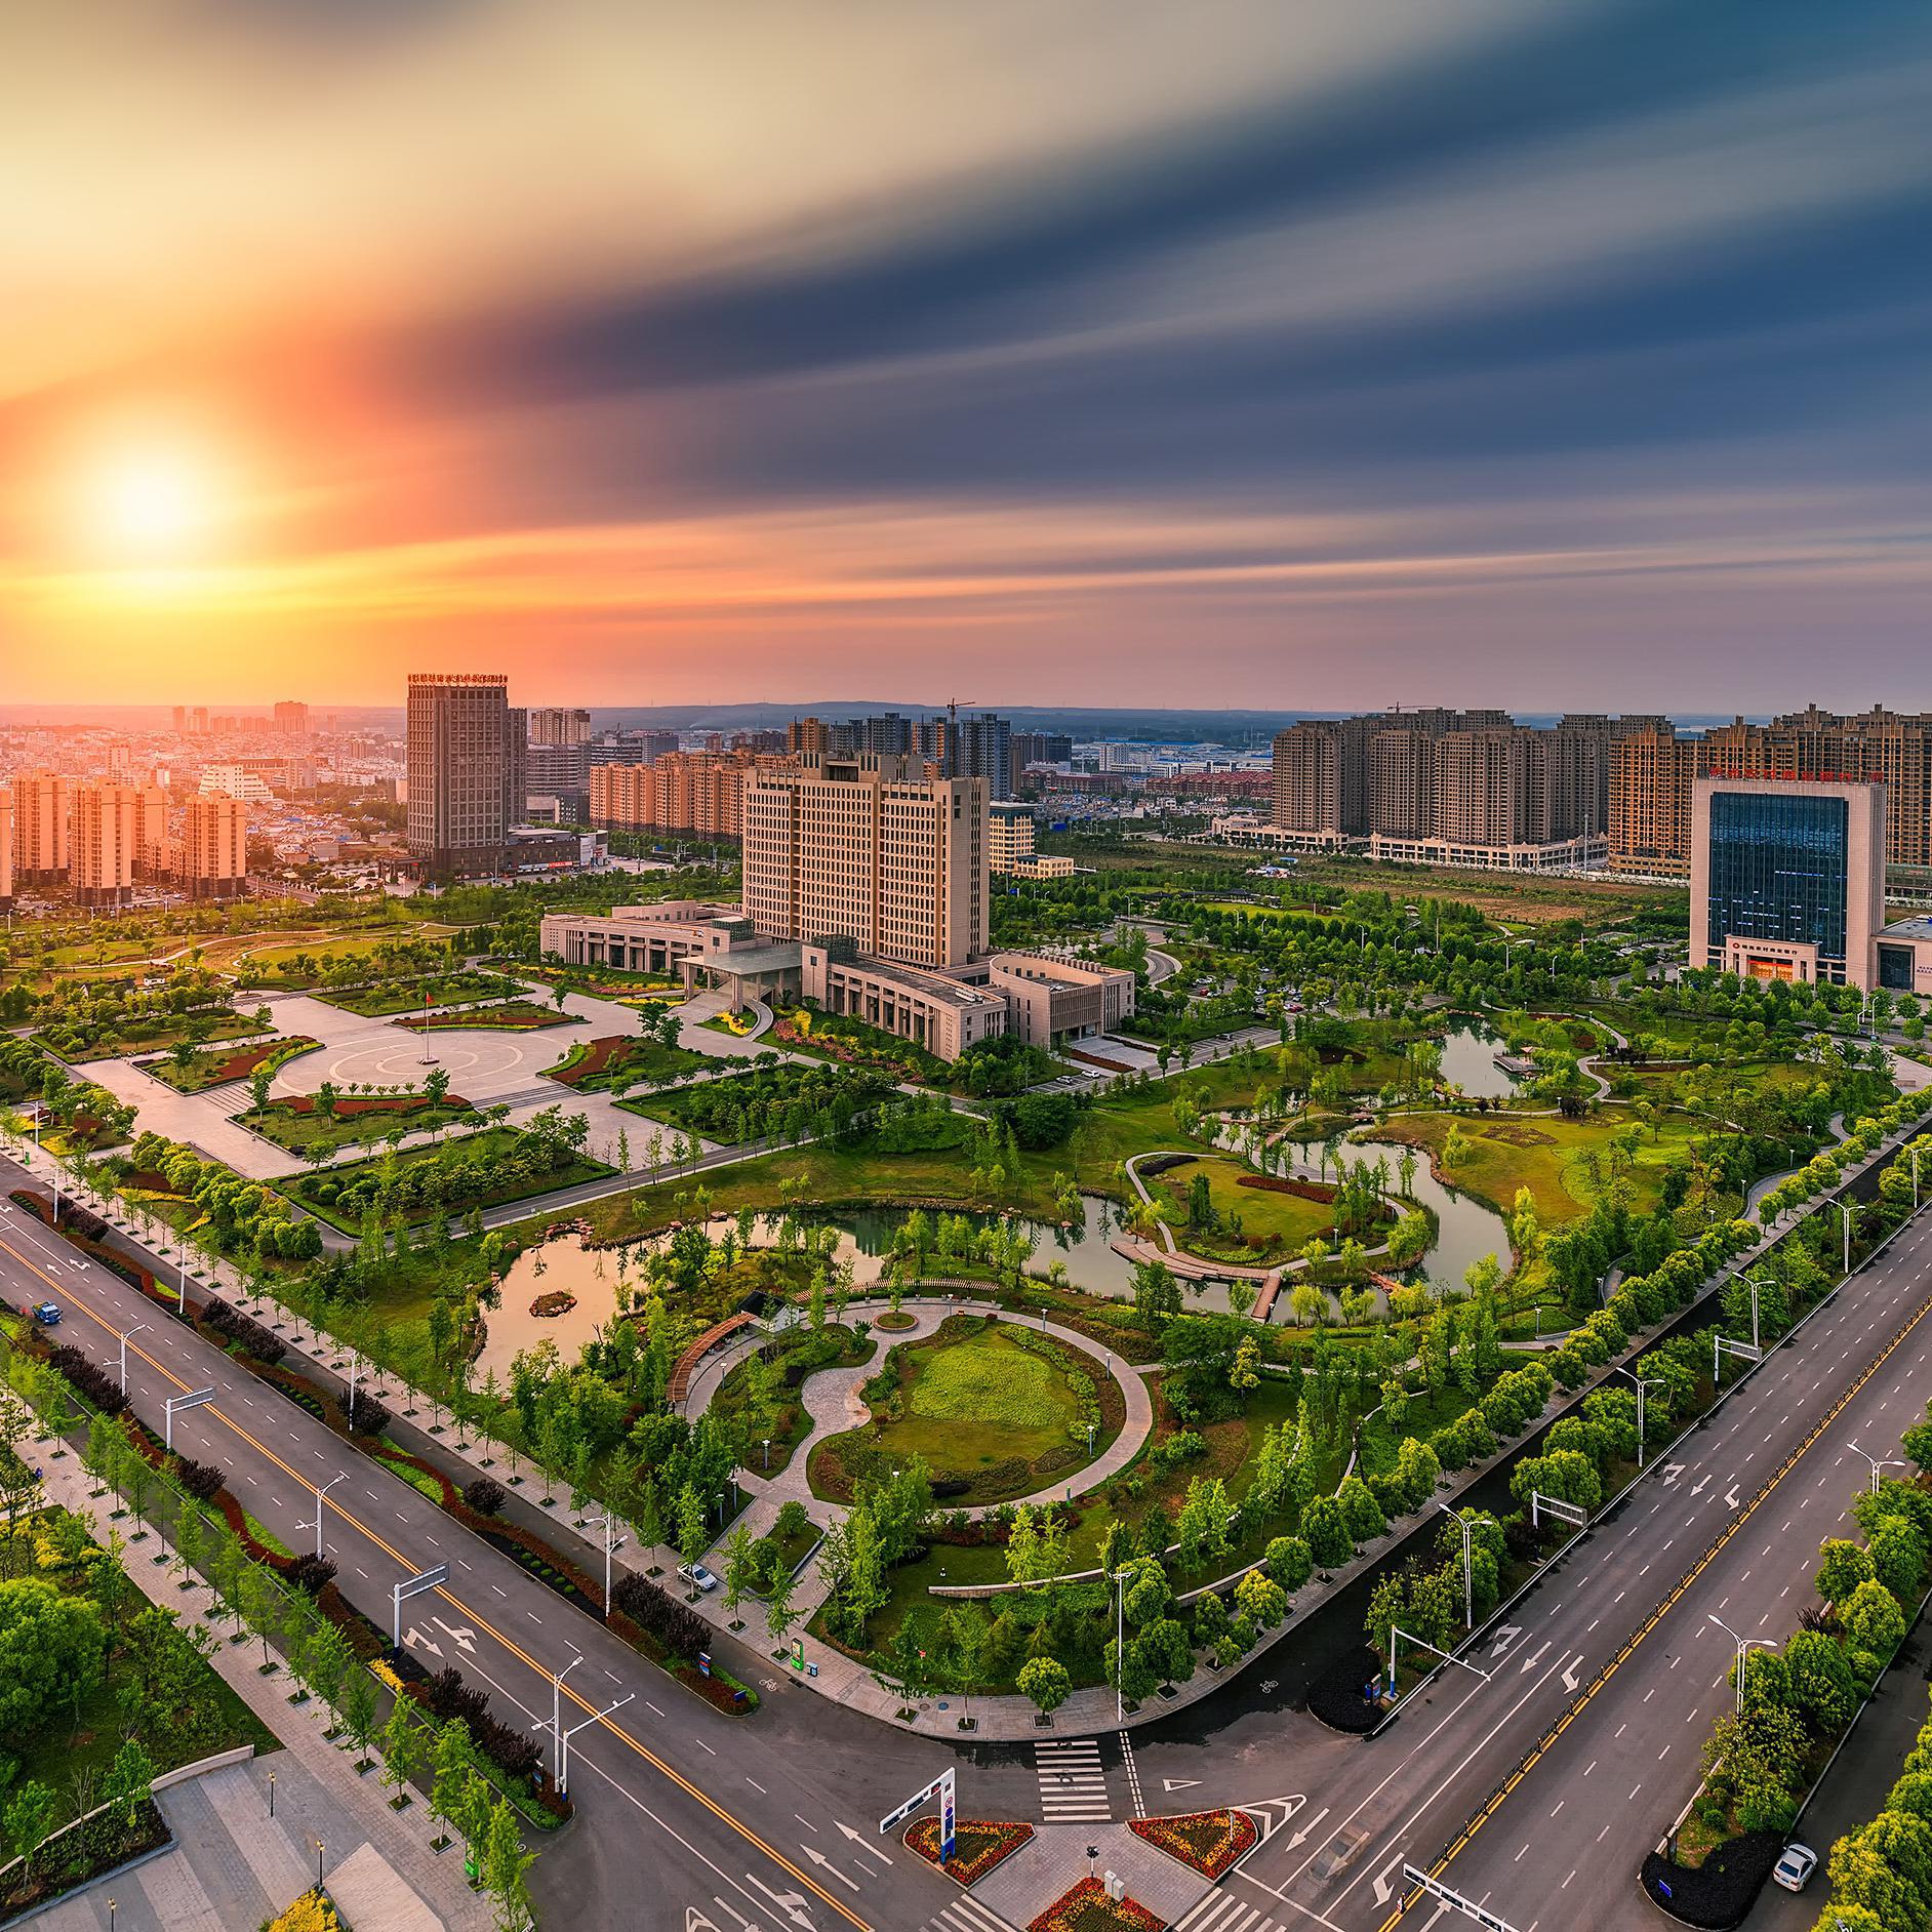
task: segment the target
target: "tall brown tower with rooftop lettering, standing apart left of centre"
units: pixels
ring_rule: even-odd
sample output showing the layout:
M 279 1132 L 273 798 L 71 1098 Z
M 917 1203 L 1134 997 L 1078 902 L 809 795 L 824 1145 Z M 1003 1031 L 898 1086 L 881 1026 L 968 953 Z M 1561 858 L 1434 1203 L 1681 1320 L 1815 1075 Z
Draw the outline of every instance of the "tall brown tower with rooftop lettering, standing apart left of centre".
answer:
M 527 721 L 497 672 L 410 676 L 408 842 L 433 873 L 497 871 L 524 817 Z

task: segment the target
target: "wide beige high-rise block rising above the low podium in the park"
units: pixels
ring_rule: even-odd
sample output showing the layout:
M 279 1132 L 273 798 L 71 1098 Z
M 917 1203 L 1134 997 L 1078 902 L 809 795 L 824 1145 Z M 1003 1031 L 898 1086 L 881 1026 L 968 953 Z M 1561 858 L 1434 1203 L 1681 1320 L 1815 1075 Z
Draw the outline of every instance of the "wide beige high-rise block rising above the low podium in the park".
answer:
M 744 786 L 744 910 L 767 939 L 962 966 L 987 937 L 987 782 L 806 753 Z

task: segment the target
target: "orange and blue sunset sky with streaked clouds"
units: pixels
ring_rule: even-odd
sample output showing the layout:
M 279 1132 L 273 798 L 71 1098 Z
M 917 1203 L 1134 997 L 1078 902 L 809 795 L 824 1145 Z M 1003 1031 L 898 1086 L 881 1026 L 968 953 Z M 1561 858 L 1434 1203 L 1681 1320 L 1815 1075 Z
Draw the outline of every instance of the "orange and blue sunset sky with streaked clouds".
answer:
M 1932 10 L 0 23 L 0 697 L 1932 707 Z

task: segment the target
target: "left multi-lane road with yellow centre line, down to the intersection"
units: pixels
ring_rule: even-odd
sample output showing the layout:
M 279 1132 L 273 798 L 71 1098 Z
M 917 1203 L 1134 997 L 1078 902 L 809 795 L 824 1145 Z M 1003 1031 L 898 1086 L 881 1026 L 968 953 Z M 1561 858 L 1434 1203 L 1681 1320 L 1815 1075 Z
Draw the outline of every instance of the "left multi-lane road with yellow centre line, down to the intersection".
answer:
M 404 1642 L 431 1667 L 454 1663 L 487 1689 L 498 1716 L 547 1721 L 551 1673 L 570 1665 L 564 1721 L 587 1727 L 570 1747 L 578 1818 L 541 1843 L 547 1857 L 533 1872 L 547 1918 L 655 1932 L 684 1926 L 696 1909 L 719 1932 L 883 1932 L 918 1926 L 951 1899 L 947 1880 L 875 1830 L 908 1789 L 952 1762 L 943 1745 L 898 1737 L 788 1687 L 759 1652 L 726 1644 L 719 1662 L 771 1689 L 752 1718 L 715 1712 L 400 1476 L 6 1202 L 25 1180 L 0 1161 L 0 1296 L 15 1308 L 58 1302 L 60 1339 L 110 1374 L 120 1337 L 147 1323 L 128 1343 L 135 1412 L 160 1434 L 166 1399 L 213 1387 L 211 1403 L 176 1414 L 174 1445 L 220 1464 L 242 1505 L 290 1548 L 313 1548 L 315 1490 L 346 1470 L 348 1480 L 325 1499 L 325 1544 L 344 1594 L 388 1627 L 392 1586 L 448 1565 L 442 1588 L 404 1604 Z M 632 1702 L 587 1721 L 626 1694 Z M 983 1789 L 991 1795 L 999 1785 L 1010 1787 L 1009 1808 L 1037 1812 L 1024 1764 L 989 1770 Z

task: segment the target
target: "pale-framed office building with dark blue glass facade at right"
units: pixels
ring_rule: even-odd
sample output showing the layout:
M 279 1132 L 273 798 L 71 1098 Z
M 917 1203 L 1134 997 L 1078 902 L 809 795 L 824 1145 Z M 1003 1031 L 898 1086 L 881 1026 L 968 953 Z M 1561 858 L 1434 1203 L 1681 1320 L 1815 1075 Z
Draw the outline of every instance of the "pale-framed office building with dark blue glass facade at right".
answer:
M 1690 964 L 1866 987 L 1884 867 L 1882 784 L 1698 779 Z

